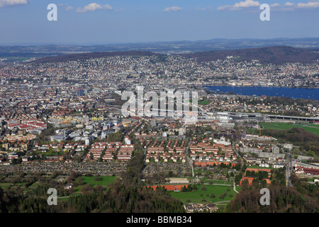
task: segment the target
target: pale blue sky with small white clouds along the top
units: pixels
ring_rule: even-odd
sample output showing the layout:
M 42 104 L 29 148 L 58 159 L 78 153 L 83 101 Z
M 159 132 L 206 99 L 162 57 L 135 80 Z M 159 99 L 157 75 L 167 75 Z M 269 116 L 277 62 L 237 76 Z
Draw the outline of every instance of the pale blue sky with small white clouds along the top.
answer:
M 57 21 L 47 21 L 48 4 Z M 0 0 L 1 44 L 319 37 L 318 24 L 319 0 Z

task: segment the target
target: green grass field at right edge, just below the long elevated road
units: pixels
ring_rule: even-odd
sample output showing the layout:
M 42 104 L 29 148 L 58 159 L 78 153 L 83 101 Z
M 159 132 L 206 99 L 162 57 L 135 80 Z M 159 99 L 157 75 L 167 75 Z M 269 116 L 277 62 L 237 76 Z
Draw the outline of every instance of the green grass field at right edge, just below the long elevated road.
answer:
M 264 129 L 286 130 L 291 128 L 303 128 L 309 133 L 319 135 L 319 126 L 312 123 L 259 123 Z

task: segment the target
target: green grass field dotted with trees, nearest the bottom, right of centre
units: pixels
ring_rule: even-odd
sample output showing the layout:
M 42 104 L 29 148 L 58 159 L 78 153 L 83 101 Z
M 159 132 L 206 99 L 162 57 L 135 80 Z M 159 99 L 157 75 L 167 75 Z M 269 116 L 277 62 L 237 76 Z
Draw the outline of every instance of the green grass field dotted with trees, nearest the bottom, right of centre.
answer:
M 206 191 L 201 190 L 205 186 Z M 169 192 L 174 198 L 180 199 L 184 204 L 189 203 L 216 203 L 218 201 L 230 201 L 237 194 L 233 187 L 220 186 L 220 185 L 196 185 L 198 189 L 194 192 Z M 228 191 L 227 189 L 230 189 Z M 238 191 L 238 188 L 237 188 Z M 211 198 L 211 194 L 215 194 L 215 198 Z M 220 195 L 226 193 L 223 199 L 220 199 Z M 206 201 L 203 201 L 205 199 Z

